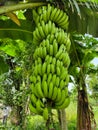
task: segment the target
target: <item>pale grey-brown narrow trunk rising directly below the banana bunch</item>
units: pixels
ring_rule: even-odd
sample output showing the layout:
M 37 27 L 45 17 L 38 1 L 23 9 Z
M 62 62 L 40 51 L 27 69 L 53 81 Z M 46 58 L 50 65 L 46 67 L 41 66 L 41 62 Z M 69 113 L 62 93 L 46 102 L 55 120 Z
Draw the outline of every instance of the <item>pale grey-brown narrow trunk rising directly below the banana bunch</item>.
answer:
M 59 118 L 61 130 L 67 130 L 65 109 L 58 110 L 58 118 Z

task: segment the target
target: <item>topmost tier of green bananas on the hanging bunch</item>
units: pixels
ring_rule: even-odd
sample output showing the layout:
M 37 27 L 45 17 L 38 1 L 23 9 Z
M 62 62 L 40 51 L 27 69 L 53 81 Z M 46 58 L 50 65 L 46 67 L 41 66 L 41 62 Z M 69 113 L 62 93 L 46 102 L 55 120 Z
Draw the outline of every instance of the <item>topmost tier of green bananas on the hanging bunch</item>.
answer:
M 36 25 L 43 20 L 47 23 L 49 20 L 55 23 L 59 28 L 66 30 L 68 28 L 68 16 L 62 10 L 55 8 L 48 4 L 48 6 L 41 6 L 37 12 L 33 10 L 33 15 L 36 16 Z

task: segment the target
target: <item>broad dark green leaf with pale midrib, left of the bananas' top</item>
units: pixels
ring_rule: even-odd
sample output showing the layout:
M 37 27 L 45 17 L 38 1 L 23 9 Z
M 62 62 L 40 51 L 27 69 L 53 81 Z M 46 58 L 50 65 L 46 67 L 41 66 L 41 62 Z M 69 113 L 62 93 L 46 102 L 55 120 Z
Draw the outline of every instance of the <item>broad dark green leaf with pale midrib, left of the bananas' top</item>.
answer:
M 11 38 L 23 41 L 32 41 L 34 26 L 32 22 L 20 20 L 21 26 L 17 26 L 11 20 L 0 20 L 0 39 Z

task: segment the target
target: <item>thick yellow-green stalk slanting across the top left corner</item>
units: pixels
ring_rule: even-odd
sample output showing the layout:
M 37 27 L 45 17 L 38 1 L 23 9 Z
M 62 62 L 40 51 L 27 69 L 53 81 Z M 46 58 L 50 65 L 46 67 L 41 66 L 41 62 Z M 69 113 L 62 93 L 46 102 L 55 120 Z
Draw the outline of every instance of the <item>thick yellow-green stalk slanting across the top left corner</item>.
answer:
M 7 12 L 13 12 L 16 10 L 22 10 L 22 9 L 28 9 L 33 8 L 41 5 L 46 5 L 44 2 L 39 3 L 24 3 L 24 4 L 16 4 L 16 5 L 10 5 L 10 6 L 2 6 L 0 7 L 0 14 L 7 13 Z

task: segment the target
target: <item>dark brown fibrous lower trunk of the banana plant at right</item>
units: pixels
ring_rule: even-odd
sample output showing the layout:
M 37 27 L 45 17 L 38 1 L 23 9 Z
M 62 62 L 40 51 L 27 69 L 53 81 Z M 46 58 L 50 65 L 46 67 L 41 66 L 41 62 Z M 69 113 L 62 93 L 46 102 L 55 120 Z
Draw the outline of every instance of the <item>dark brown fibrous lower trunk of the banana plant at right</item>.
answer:
M 78 90 L 77 130 L 91 130 L 90 110 L 85 90 Z

